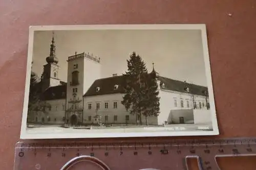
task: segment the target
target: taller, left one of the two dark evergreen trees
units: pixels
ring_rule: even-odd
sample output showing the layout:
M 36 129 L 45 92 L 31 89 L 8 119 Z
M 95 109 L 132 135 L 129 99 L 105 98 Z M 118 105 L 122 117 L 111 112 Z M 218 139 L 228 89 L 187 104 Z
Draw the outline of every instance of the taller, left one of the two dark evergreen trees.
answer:
M 130 114 L 136 115 L 136 122 L 142 124 L 141 115 L 143 100 L 145 99 L 147 69 L 142 58 L 133 52 L 127 60 L 127 71 L 125 71 L 125 95 L 121 102 Z M 138 119 L 139 115 L 139 119 Z

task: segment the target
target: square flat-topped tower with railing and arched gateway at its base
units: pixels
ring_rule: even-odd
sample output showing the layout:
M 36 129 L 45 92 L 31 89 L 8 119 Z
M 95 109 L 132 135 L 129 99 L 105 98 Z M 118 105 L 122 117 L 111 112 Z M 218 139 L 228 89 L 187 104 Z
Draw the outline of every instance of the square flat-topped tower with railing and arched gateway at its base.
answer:
M 100 58 L 84 52 L 68 58 L 66 117 L 72 125 L 83 122 L 83 95 L 100 78 Z

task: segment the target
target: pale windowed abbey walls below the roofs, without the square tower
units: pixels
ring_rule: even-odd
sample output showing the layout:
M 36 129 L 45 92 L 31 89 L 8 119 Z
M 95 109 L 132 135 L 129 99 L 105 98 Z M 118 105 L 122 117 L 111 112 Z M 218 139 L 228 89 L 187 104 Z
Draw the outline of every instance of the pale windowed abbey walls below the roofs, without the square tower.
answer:
M 129 111 L 126 111 L 125 107 L 121 104 L 121 101 L 123 100 L 122 96 L 123 94 L 121 93 L 83 96 L 81 100 L 82 102 L 79 102 L 77 106 L 77 110 L 82 108 L 79 110 L 80 114 L 77 114 L 77 111 L 75 113 L 70 112 L 70 114 L 66 113 L 66 115 L 65 99 L 46 101 L 51 106 L 51 109 L 49 110 L 49 108 L 47 108 L 46 113 L 37 113 L 37 118 L 34 117 L 34 121 L 44 124 L 58 124 L 64 123 L 63 117 L 66 116 L 65 122 L 67 123 L 68 119 L 68 122 L 71 123 L 71 116 L 75 114 L 77 116 L 77 120 L 86 125 L 98 123 L 98 120 L 95 118 L 96 115 L 101 116 L 101 122 L 103 124 L 135 125 L 136 115 L 131 115 Z M 205 96 L 160 89 L 159 97 L 159 116 L 147 117 L 149 125 L 179 124 L 180 117 L 184 118 L 185 124 L 189 120 L 191 120 L 190 123 L 195 124 L 203 124 L 210 121 L 210 110 L 207 110 Z M 193 110 L 193 98 L 196 104 L 195 110 Z M 146 123 L 143 115 L 141 120 L 143 124 Z

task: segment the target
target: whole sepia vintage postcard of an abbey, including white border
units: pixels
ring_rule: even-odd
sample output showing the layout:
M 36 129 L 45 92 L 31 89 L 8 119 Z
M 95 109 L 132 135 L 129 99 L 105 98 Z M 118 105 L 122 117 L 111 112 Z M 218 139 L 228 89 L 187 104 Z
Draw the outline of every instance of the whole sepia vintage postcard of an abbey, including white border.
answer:
M 205 25 L 30 27 L 20 138 L 218 134 Z

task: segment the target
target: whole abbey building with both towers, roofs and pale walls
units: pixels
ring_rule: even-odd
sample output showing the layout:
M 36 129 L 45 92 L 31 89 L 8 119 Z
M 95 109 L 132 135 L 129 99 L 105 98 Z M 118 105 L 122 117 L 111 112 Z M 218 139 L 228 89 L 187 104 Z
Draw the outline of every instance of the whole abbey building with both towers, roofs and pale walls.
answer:
M 101 77 L 100 58 L 89 53 L 75 53 L 67 57 L 67 82 L 58 78 L 58 58 L 52 38 L 50 55 L 41 75 L 41 101 L 44 111 L 34 111 L 30 122 L 40 124 L 126 124 L 135 125 L 138 118 L 121 104 L 125 85 L 124 76 L 113 74 Z M 161 77 L 154 69 L 160 97 L 158 117 L 148 117 L 152 125 L 209 123 L 201 115 L 210 114 L 207 87 Z M 200 116 L 195 116 L 199 114 Z M 203 116 L 204 117 L 204 116 Z M 205 116 L 207 117 L 207 116 Z M 210 116 L 208 116 L 210 119 Z M 142 122 L 145 123 L 144 118 Z

